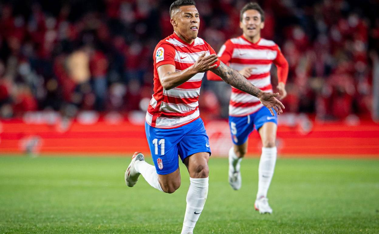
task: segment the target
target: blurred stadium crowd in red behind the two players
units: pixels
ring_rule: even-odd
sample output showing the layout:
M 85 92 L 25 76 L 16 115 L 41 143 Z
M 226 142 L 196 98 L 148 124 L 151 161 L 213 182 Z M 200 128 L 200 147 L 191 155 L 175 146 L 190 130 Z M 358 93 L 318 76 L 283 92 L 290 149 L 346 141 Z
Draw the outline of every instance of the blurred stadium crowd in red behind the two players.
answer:
M 35 110 L 69 117 L 80 110 L 144 112 L 153 93 L 154 47 L 173 31 L 171 2 L 1 1 L 0 118 Z M 199 36 L 218 51 L 241 35 L 246 2 L 196 1 Z M 377 1 L 257 2 L 266 13 L 262 36 L 281 47 L 290 65 L 286 112 L 319 119 L 371 112 Z M 226 117 L 229 92 L 204 79 L 202 115 Z

